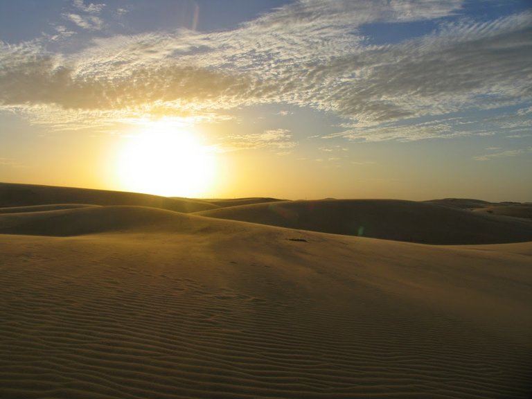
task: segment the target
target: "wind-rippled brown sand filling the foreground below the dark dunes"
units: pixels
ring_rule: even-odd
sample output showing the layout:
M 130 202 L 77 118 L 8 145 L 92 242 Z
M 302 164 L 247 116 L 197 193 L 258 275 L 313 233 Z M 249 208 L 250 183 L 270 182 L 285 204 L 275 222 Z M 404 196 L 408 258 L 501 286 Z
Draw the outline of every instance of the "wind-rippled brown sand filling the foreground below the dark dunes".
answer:
M 0 235 L 0 398 L 532 392 L 531 242 L 436 247 L 104 208 L 49 213 L 127 231 Z

